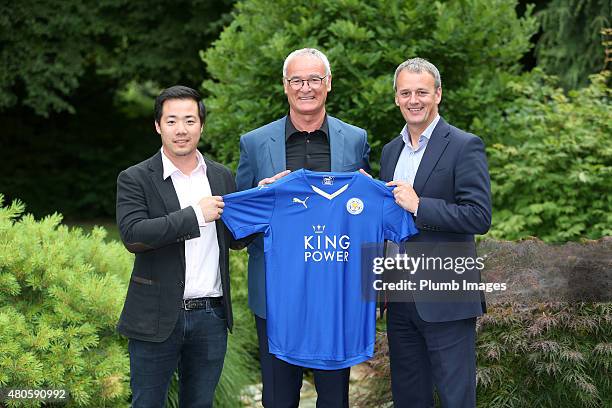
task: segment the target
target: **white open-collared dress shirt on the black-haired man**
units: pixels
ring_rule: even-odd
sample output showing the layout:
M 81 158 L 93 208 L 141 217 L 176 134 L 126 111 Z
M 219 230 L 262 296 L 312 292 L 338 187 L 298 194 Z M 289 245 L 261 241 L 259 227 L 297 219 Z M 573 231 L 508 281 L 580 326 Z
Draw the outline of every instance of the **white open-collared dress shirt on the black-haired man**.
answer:
M 172 178 L 174 190 L 181 208 L 192 206 L 195 210 L 200 236 L 185 241 L 185 291 L 183 299 L 223 296 L 219 272 L 219 243 L 214 222 L 206 222 L 198 202 L 212 196 L 206 177 L 204 157 L 197 151 L 198 165 L 191 174 L 183 174 L 161 149 L 164 180 Z

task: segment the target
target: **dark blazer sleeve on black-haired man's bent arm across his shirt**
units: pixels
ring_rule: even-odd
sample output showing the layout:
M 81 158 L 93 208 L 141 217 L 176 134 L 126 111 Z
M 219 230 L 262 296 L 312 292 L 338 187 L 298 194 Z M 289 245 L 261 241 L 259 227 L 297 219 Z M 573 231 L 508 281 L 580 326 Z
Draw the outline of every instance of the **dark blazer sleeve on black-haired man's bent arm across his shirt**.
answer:
M 191 206 L 162 217 L 149 218 L 144 187 L 127 171 L 117 178 L 117 225 L 130 252 L 146 252 L 200 236 Z

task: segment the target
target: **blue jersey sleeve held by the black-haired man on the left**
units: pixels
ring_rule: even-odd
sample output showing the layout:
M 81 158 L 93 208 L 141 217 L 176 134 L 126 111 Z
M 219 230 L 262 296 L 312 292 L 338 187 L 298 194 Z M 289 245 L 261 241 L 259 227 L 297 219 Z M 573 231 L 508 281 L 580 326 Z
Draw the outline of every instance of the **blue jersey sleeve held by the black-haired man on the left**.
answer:
M 255 187 L 223 196 L 221 219 L 240 239 L 256 232 L 266 232 L 274 212 L 274 189 Z

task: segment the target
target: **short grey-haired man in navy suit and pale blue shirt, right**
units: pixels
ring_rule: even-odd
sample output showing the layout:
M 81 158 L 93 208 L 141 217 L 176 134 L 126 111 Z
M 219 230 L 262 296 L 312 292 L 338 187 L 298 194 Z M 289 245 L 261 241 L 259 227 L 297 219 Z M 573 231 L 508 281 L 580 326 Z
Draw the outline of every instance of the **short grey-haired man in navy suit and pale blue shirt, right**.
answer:
M 475 257 L 474 234 L 486 233 L 491 223 L 484 144 L 439 116 L 442 86 L 433 64 L 421 58 L 400 64 L 394 90 L 406 126 L 384 146 L 380 178 L 393 180 L 388 185 L 395 186 L 396 202 L 413 214 L 420 230 L 407 253 L 412 244 L 437 247 L 437 255 L 445 256 L 446 247 L 453 257 Z M 457 280 L 480 276 L 475 269 L 435 277 L 422 273 L 438 281 L 453 274 Z M 388 304 L 395 407 L 433 407 L 434 385 L 442 406 L 476 406 L 475 324 L 485 312 L 484 297 L 478 290 L 446 295 L 414 292 L 410 301 Z

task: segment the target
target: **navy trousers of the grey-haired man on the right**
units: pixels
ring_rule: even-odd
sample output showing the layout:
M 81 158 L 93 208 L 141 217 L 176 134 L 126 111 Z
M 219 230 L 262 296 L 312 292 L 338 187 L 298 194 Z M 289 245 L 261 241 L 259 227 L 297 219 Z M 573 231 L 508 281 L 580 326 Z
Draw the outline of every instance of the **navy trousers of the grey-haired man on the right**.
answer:
M 476 406 L 476 318 L 430 323 L 412 302 L 389 303 L 391 390 L 396 408 Z

